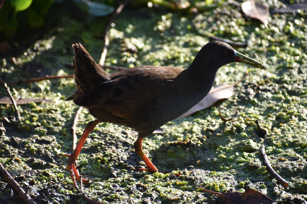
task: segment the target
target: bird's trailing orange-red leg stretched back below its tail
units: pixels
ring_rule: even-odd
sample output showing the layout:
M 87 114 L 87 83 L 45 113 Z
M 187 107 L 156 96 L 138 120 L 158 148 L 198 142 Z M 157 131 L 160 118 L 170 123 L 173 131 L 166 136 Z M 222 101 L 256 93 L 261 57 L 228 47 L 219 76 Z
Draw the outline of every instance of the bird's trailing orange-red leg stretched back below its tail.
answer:
M 90 132 L 94 130 L 95 126 L 100 123 L 100 121 L 97 119 L 95 121 L 91 121 L 87 124 L 87 126 L 84 128 L 84 132 L 75 148 L 73 150 L 72 154 L 61 154 L 62 156 L 67 156 L 68 158 L 68 167 L 70 171 L 70 177 L 72 178 L 72 182 L 74 184 L 74 187 L 78 189 L 76 180 L 80 180 L 80 173 L 78 169 L 76 168 L 75 162 L 80 154 L 80 151 L 85 143 L 85 140 Z M 86 183 L 87 180 L 82 178 L 82 182 Z

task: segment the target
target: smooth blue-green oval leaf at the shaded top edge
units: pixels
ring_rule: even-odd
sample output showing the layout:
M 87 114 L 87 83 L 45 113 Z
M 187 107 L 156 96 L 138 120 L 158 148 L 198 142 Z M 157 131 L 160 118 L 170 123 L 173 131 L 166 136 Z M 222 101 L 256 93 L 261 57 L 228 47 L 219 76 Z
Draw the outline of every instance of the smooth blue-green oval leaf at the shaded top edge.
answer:
M 74 0 L 74 2 L 81 9 L 93 16 L 107 16 L 114 11 L 112 6 L 102 3 L 91 2 L 88 0 Z

